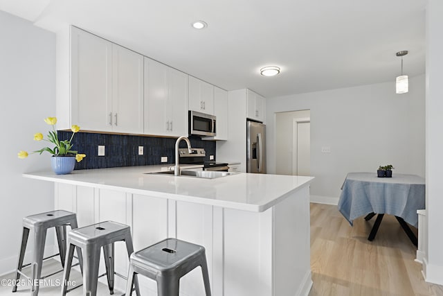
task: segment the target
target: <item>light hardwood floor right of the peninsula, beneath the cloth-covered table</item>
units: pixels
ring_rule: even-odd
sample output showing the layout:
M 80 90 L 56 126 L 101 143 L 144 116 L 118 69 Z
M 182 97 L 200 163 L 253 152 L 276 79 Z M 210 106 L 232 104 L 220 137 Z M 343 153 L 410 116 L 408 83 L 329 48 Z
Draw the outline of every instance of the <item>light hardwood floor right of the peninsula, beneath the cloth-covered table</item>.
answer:
M 375 218 L 358 218 L 351 227 L 336 206 L 311 204 L 309 296 L 442 296 L 443 286 L 424 281 L 417 248 L 395 217 L 385 215 L 368 241 Z

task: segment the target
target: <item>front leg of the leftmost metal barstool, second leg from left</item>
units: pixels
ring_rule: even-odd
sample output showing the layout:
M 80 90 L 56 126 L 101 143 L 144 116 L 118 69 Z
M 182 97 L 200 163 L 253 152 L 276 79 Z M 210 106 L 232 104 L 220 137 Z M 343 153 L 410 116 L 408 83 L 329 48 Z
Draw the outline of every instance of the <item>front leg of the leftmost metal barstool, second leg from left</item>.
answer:
M 46 228 L 34 227 L 34 254 L 33 264 L 31 266 L 33 272 L 31 279 L 33 279 L 33 286 L 31 288 L 31 295 L 37 296 L 39 293 L 38 279 L 42 278 L 42 264 L 44 254 L 44 243 L 46 241 Z M 37 282 L 37 285 L 36 285 Z

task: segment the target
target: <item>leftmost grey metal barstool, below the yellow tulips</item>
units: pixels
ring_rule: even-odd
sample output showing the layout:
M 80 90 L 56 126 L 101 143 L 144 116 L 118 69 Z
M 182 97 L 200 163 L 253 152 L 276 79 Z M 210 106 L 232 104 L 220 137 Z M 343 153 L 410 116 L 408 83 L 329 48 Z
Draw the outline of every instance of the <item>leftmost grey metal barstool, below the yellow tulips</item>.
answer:
M 36 296 L 39 293 L 39 285 L 38 280 L 42 279 L 42 264 L 43 261 L 49 258 L 53 258 L 58 254 L 53 256 L 49 256 L 43 258 L 44 254 L 44 244 L 46 241 L 46 231 L 48 228 L 55 227 L 55 232 L 57 233 L 57 243 L 60 254 L 60 261 L 62 262 L 62 266 L 64 267 L 64 259 L 66 254 L 66 226 L 71 225 L 71 228 L 77 228 L 77 217 L 75 213 L 71 213 L 70 211 L 48 211 L 46 213 L 36 214 L 32 216 L 27 216 L 23 218 L 23 234 L 21 236 L 21 248 L 19 254 L 19 262 L 17 263 L 17 272 L 15 279 L 20 279 L 20 275 L 24 275 L 21 272 L 21 269 L 31 265 L 32 272 L 30 279 L 33 280 L 33 286 L 31 288 L 31 295 Z M 33 261 L 32 263 L 23 265 L 23 260 L 26 251 L 26 244 L 28 243 L 29 232 L 33 232 L 34 237 L 34 249 L 33 249 Z M 80 268 L 82 266 L 82 254 L 79 252 L 80 249 L 77 250 L 78 260 L 80 263 Z M 71 261 L 72 263 L 72 261 Z M 71 264 L 70 263 L 70 264 Z M 59 270 L 57 272 L 61 272 L 63 270 Z M 53 272 L 51 275 L 55 275 L 57 272 Z M 51 275 L 47 275 L 49 277 Z M 17 283 L 16 281 L 16 283 Z M 12 287 L 12 292 L 17 291 L 17 285 Z

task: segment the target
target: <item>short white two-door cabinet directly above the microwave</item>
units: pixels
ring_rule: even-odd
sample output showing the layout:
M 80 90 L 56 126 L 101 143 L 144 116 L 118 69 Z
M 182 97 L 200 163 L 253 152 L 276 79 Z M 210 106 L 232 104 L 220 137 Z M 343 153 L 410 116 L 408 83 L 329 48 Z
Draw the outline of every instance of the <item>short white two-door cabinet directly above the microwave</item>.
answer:
M 214 115 L 214 86 L 189 76 L 189 110 Z

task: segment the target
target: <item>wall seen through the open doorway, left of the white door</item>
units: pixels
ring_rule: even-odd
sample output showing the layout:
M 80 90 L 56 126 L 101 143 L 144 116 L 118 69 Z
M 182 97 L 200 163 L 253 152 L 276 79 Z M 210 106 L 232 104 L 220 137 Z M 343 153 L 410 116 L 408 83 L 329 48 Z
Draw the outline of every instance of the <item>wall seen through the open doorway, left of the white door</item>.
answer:
M 275 173 L 292 175 L 293 119 L 309 118 L 309 110 L 275 114 Z

